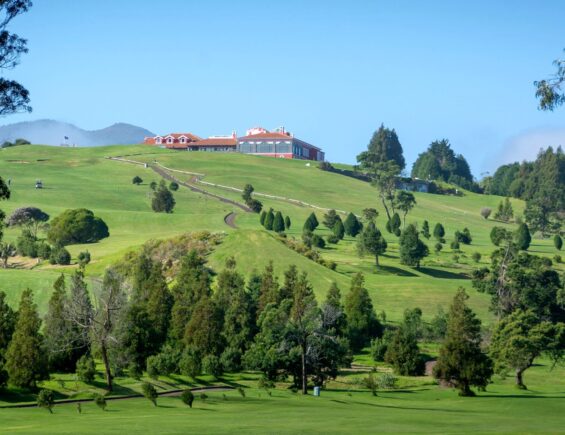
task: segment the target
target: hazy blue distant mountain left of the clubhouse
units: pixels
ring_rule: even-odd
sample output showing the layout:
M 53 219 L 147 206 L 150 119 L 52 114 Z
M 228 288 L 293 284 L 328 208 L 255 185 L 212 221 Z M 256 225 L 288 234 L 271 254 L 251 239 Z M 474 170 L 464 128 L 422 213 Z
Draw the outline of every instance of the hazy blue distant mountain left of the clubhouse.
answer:
M 65 136 L 69 139 L 65 140 Z M 101 130 L 83 130 L 66 122 L 41 119 L 18 122 L 0 127 L 0 144 L 27 139 L 33 144 L 95 147 L 142 143 L 145 136 L 155 136 L 149 130 L 131 124 L 117 123 Z

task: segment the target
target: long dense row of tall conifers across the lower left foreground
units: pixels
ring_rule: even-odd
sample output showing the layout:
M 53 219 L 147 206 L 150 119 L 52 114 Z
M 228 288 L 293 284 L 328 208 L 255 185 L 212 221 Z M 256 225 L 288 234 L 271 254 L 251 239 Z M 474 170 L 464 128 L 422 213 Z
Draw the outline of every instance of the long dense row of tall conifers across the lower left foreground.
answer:
M 30 290 L 15 313 L 0 293 L 0 385 L 34 388 L 53 372 L 76 372 L 92 382 L 94 358 L 114 376 L 169 373 L 220 376 L 248 368 L 266 380 L 291 377 L 306 393 L 322 384 L 378 337 L 377 319 L 361 274 L 341 297 L 332 284 L 318 305 L 305 273 L 295 266 L 279 284 L 272 263 L 247 283 L 233 258 L 211 288 L 211 273 L 196 251 L 183 258 L 169 289 L 160 262 L 145 253 L 108 269 L 88 289 L 82 269 L 54 284 L 40 319 Z

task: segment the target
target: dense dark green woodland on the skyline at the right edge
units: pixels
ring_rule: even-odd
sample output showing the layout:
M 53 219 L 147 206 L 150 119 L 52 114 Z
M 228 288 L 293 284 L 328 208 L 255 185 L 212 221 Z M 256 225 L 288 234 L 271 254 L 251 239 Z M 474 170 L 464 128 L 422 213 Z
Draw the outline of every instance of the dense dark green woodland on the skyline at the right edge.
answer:
M 565 155 L 561 147 L 541 150 L 533 162 L 499 167 L 483 180 L 485 193 L 526 201 L 524 218 L 532 231 L 558 232 L 565 210 Z

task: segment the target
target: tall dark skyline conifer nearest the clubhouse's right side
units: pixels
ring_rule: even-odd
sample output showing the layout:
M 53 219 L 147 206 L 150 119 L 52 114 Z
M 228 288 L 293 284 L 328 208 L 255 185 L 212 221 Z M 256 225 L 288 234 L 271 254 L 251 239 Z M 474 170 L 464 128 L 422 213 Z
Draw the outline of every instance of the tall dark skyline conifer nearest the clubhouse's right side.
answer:
M 379 163 L 393 161 L 400 170 L 404 169 L 406 162 L 402 152 L 402 145 L 398 140 L 396 131 L 390 130 L 381 124 L 379 129 L 373 133 L 373 137 L 367 146 L 367 151 L 357 156 L 357 162 L 362 169 L 371 169 Z

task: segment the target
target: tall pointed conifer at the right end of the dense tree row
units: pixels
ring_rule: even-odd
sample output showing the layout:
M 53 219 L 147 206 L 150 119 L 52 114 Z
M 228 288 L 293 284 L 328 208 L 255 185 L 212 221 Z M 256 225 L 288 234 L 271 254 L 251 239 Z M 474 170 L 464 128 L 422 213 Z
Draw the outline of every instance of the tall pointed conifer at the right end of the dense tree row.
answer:
M 351 281 L 351 289 L 345 297 L 345 315 L 347 316 L 347 335 L 351 349 L 360 351 L 371 339 L 381 333 L 381 325 L 373 309 L 369 292 L 364 287 L 363 274 L 358 273 Z

